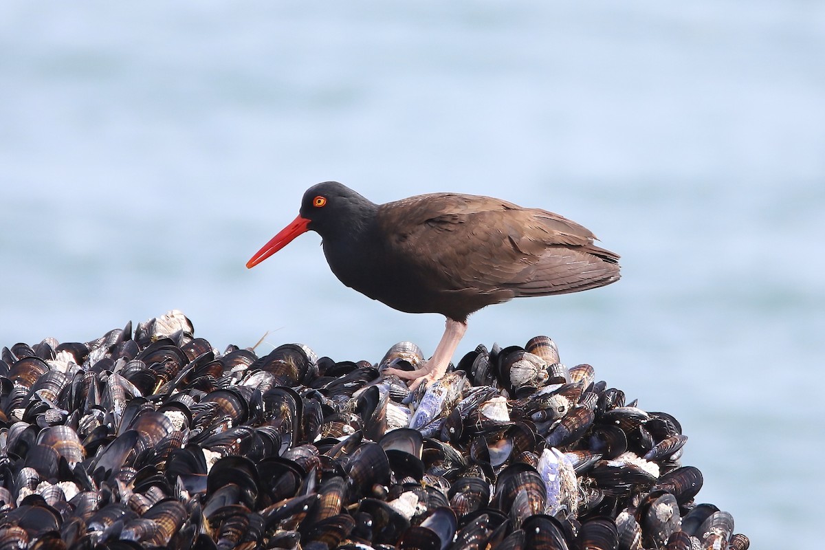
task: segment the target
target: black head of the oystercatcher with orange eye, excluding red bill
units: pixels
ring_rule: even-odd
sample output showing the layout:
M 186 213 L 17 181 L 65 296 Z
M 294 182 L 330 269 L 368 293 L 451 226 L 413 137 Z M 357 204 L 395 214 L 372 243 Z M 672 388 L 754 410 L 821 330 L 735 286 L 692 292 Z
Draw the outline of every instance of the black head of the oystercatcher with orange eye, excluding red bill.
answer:
M 301 200 L 300 216 L 308 228 L 322 237 L 342 228 L 352 228 L 375 213 L 376 205 L 337 181 L 310 187 Z

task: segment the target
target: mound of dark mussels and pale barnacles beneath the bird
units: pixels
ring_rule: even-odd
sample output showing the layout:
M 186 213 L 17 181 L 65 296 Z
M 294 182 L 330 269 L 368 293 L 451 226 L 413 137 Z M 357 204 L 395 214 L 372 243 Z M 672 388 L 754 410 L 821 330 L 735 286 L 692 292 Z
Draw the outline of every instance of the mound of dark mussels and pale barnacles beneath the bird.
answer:
M 169 312 L 2 349 L 0 548 L 726 548 L 675 418 L 538 336 L 409 392 L 384 359 L 214 350 Z

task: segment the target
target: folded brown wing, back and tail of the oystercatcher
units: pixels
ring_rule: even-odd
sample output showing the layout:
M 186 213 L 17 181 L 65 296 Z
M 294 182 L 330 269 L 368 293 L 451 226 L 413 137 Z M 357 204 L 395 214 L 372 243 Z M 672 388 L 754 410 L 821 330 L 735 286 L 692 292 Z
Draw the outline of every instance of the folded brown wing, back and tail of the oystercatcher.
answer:
M 439 193 L 383 204 L 379 226 L 392 227 L 394 250 L 426 253 L 427 276 L 451 289 L 496 296 L 563 294 L 619 279 L 619 256 L 593 245 L 593 234 L 541 209 L 476 195 Z

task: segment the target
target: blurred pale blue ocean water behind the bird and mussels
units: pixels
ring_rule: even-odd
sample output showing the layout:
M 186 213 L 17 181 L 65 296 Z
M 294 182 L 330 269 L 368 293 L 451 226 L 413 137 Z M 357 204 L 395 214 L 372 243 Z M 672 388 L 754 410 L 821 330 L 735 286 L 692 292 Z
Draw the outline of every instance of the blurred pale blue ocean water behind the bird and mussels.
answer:
M 171 308 L 214 346 L 427 352 L 320 239 L 244 263 L 337 180 L 574 219 L 604 289 L 474 314 L 672 413 L 752 548 L 818 536 L 825 5 L 804 0 L 0 4 L 0 346 Z M 458 356 L 455 358 L 458 359 Z

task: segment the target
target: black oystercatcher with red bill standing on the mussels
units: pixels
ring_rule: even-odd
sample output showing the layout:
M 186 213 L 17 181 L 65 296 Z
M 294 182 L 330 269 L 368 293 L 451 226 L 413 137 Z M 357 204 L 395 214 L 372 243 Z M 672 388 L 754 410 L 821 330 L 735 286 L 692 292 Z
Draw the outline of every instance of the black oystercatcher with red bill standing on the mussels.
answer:
M 541 209 L 485 196 L 434 193 L 375 204 L 337 181 L 304 193 L 295 221 L 257 266 L 308 230 L 343 284 L 408 313 L 441 313 L 446 330 L 424 368 L 387 369 L 413 386 L 441 378 L 467 317 L 491 303 L 594 289 L 619 280 L 619 256 L 593 233 Z

